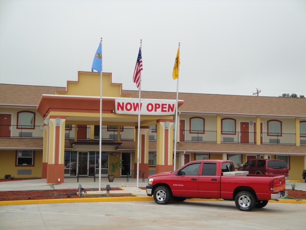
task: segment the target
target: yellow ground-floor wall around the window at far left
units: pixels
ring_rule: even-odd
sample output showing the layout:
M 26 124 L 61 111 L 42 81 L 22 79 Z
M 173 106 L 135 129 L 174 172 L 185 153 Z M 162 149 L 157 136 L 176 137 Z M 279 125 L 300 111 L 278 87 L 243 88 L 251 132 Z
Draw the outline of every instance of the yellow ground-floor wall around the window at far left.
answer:
M 41 177 L 41 167 L 43 163 L 43 151 L 35 151 L 35 166 L 34 167 L 15 167 L 15 150 L 0 150 L 0 178 L 4 178 L 5 174 L 10 174 L 16 178 L 25 177 Z M 17 175 L 18 169 L 31 169 L 31 175 Z

